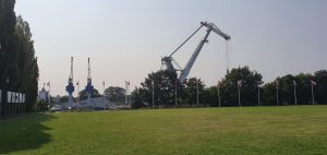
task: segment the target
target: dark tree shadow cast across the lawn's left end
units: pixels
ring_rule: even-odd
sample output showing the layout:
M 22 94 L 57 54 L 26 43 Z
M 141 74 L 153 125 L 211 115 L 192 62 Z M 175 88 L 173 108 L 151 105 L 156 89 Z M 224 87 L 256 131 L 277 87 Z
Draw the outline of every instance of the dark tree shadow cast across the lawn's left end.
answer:
M 0 121 L 0 154 L 39 148 L 51 141 L 51 130 L 43 124 L 56 117 L 45 114 L 31 114 Z

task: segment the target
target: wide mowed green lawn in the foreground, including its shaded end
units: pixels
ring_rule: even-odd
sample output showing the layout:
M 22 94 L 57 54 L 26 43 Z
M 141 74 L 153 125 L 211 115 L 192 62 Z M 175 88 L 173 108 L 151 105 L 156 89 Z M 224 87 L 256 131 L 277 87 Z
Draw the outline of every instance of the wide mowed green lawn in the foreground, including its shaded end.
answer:
M 0 154 L 326 155 L 327 106 L 34 114 L 0 121 Z

